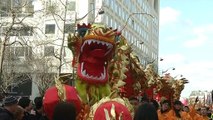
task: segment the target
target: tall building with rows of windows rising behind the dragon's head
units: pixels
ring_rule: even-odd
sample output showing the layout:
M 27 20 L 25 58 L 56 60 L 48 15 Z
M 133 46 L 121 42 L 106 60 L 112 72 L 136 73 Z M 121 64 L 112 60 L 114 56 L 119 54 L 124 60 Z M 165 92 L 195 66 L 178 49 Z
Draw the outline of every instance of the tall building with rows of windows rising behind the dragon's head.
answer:
M 77 19 L 81 22 L 103 23 L 122 30 L 145 66 L 154 62 L 157 72 L 159 51 L 160 0 L 77 0 Z M 98 11 L 104 10 L 104 14 Z

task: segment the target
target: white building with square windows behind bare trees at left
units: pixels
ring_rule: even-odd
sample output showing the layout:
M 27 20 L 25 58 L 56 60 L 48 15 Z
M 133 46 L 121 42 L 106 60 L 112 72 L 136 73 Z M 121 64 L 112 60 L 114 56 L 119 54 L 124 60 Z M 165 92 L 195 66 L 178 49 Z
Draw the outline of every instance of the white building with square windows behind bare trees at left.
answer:
M 14 43 L 5 51 L 16 58 L 4 60 L 3 69 L 12 71 L 13 66 L 17 69 L 15 73 L 30 74 L 35 83 L 41 74 L 58 74 L 58 58 L 62 52 L 61 73 L 72 73 L 72 53 L 66 46 L 67 35 L 75 28 L 75 0 L 3 0 L 0 3 L 1 43 L 5 40 Z M 33 83 L 30 89 L 35 97 L 38 88 Z

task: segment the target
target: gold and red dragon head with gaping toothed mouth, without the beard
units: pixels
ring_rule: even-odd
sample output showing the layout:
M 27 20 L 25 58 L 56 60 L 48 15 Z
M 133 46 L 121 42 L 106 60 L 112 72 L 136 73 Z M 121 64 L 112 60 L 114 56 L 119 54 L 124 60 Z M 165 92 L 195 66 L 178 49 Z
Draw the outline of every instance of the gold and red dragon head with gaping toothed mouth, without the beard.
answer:
M 77 36 L 69 36 L 73 51 L 73 65 L 77 76 L 90 84 L 105 84 L 108 80 L 108 63 L 114 55 L 117 30 L 103 25 L 78 25 Z

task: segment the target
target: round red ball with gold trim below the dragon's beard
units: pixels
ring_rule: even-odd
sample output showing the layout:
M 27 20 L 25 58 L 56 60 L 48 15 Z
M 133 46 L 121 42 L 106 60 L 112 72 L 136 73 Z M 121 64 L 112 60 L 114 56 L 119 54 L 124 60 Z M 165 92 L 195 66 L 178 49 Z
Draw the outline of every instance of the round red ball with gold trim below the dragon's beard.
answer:
M 91 107 L 87 120 L 132 120 L 132 112 L 127 100 L 106 97 Z

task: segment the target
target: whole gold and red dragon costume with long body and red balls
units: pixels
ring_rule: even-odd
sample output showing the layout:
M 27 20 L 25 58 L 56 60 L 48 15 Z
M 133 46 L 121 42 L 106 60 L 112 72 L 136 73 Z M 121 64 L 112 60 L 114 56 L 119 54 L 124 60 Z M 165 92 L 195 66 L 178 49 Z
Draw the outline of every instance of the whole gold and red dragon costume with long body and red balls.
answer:
M 127 98 L 148 93 L 153 99 L 153 91 L 162 95 L 166 85 L 174 90 L 159 79 L 151 65 L 143 68 L 117 29 L 78 25 L 76 33 L 68 36 L 68 47 L 73 52 L 75 87 L 57 79 L 46 91 L 44 109 L 50 120 L 59 101 L 74 102 L 78 120 L 131 120 L 134 110 Z

